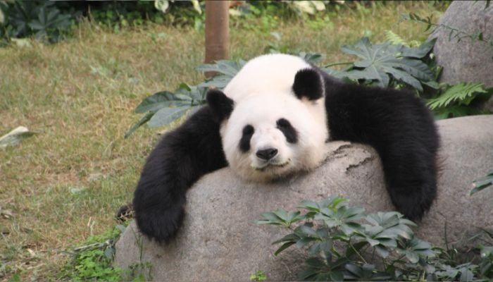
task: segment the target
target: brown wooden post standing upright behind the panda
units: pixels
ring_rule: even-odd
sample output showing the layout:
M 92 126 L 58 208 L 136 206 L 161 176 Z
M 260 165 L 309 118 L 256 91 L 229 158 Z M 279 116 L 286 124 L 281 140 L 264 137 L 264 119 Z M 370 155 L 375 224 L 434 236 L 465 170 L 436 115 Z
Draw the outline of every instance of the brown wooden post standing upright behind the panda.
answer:
M 206 1 L 206 59 L 213 63 L 227 59 L 230 50 L 230 1 Z M 210 77 L 214 72 L 206 73 Z

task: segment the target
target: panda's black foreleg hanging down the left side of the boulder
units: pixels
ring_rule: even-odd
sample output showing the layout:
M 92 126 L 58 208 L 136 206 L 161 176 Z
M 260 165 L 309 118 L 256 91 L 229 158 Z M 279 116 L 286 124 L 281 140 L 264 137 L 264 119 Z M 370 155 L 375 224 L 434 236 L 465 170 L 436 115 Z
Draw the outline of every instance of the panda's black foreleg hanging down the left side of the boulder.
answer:
M 227 166 L 219 125 L 204 106 L 153 149 L 133 200 L 144 235 L 158 242 L 172 239 L 182 225 L 187 190 L 205 173 Z

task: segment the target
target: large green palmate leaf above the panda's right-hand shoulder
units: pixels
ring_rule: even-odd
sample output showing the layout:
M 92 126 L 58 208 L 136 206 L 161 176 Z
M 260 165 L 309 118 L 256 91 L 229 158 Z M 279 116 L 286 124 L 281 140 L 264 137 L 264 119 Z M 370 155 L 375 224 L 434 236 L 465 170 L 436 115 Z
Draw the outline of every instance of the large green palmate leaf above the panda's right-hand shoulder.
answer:
M 420 59 L 430 52 L 434 43 L 430 41 L 420 47 L 409 48 L 389 42 L 371 44 L 368 37 L 363 37 L 354 46 L 341 48 L 344 53 L 360 59 L 344 76 L 354 80 L 375 80 L 380 87 L 389 86 L 393 78 L 422 91 L 421 81 L 433 80 L 434 75 Z

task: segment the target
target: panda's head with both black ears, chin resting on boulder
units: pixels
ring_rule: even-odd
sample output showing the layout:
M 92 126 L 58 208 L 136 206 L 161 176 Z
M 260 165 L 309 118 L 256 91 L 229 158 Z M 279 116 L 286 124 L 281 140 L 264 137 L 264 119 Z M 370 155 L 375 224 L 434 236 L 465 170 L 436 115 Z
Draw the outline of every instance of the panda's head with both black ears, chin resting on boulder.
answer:
M 318 166 L 325 158 L 327 125 L 323 79 L 297 71 L 289 91 L 268 89 L 233 101 L 210 90 L 207 102 L 221 121 L 225 157 L 246 180 L 269 181 Z

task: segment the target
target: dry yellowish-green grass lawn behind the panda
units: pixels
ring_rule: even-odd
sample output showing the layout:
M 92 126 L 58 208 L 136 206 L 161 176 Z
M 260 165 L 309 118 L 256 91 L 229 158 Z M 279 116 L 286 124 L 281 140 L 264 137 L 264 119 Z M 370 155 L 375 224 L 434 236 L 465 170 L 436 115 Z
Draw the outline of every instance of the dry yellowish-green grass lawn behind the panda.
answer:
M 377 4 L 342 9 L 330 22 L 298 21 L 270 31 L 281 32 L 280 44 L 289 49 L 316 51 L 332 63 L 349 59 L 339 47 L 364 35 L 379 42 L 392 30 L 423 40 L 425 26 L 397 25 L 400 13 L 438 18 L 443 9 Z M 262 54 L 274 40 L 267 29 L 235 25 L 230 37 L 233 59 Z M 149 94 L 203 80 L 194 67 L 204 60 L 204 32 L 191 28 L 151 24 L 116 33 L 82 23 L 61 43 L 31 44 L 0 48 L 0 135 L 20 125 L 39 132 L 0 148 L 0 281 L 56 279 L 68 259 L 61 251 L 111 229 L 158 139 L 159 130 L 148 128 L 123 139 L 141 117 L 133 109 Z

